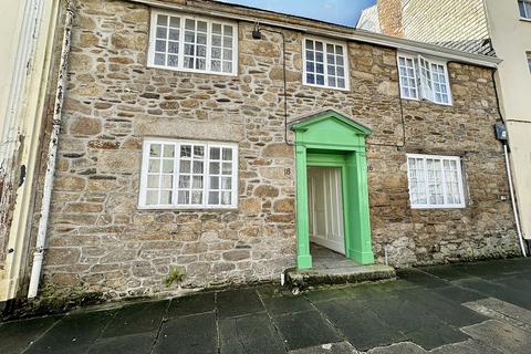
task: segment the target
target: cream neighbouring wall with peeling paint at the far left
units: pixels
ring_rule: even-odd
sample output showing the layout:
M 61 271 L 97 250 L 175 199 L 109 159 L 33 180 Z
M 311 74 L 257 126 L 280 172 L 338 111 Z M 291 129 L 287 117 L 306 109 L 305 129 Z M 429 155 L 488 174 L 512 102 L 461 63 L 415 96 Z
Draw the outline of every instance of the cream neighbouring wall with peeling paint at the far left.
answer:
M 21 186 L 14 186 L 18 188 L 12 206 L 12 223 L 3 236 L 7 239 L 7 249 L 12 252 L 6 252 L 4 262 L 0 263 L 0 302 L 17 295 L 23 275 L 29 237 L 28 220 L 34 188 L 32 180 L 37 170 L 59 4 L 60 0 L 0 2 L 1 13 L 6 14 L 0 21 L 0 163 L 2 167 L 13 168 L 6 170 L 8 178 L 17 174 L 20 166 L 27 167 L 25 181 Z M 30 7 L 39 9 L 31 18 L 28 17 L 28 13 L 32 12 L 29 11 Z M 24 41 L 23 28 L 28 23 L 34 23 L 34 30 L 30 40 Z M 23 65 L 20 65 L 22 46 L 25 46 L 30 54 Z M 13 94 L 19 95 L 20 100 L 10 100 Z M 15 143 L 19 139 L 23 140 L 23 144 Z M 10 162 L 15 154 L 18 158 L 13 165 Z

